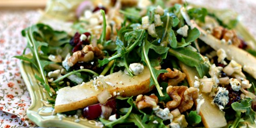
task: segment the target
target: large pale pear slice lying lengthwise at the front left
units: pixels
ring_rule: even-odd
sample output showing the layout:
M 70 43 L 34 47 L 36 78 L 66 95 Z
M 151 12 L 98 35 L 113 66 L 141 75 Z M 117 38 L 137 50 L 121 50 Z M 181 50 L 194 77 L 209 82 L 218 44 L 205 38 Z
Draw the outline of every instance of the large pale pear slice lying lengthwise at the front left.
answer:
M 93 81 L 74 87 L 64 87 L 58 90 L 54 107 L 55 112 L 67 112 L 97 104 L 97 95 L 103 90 L 108 90 L 112 96 L 115 92 L 115 94 L 123 97 L 147 93 L 153 89 L 153 86 L 149 88 L 150 77 L 150 72 L 145 67 L 144 71 L 136 76 L 129 76 L 123 71 L 103 76 L 98 80 L 100 86 L 97 87 L 94 86 Z

